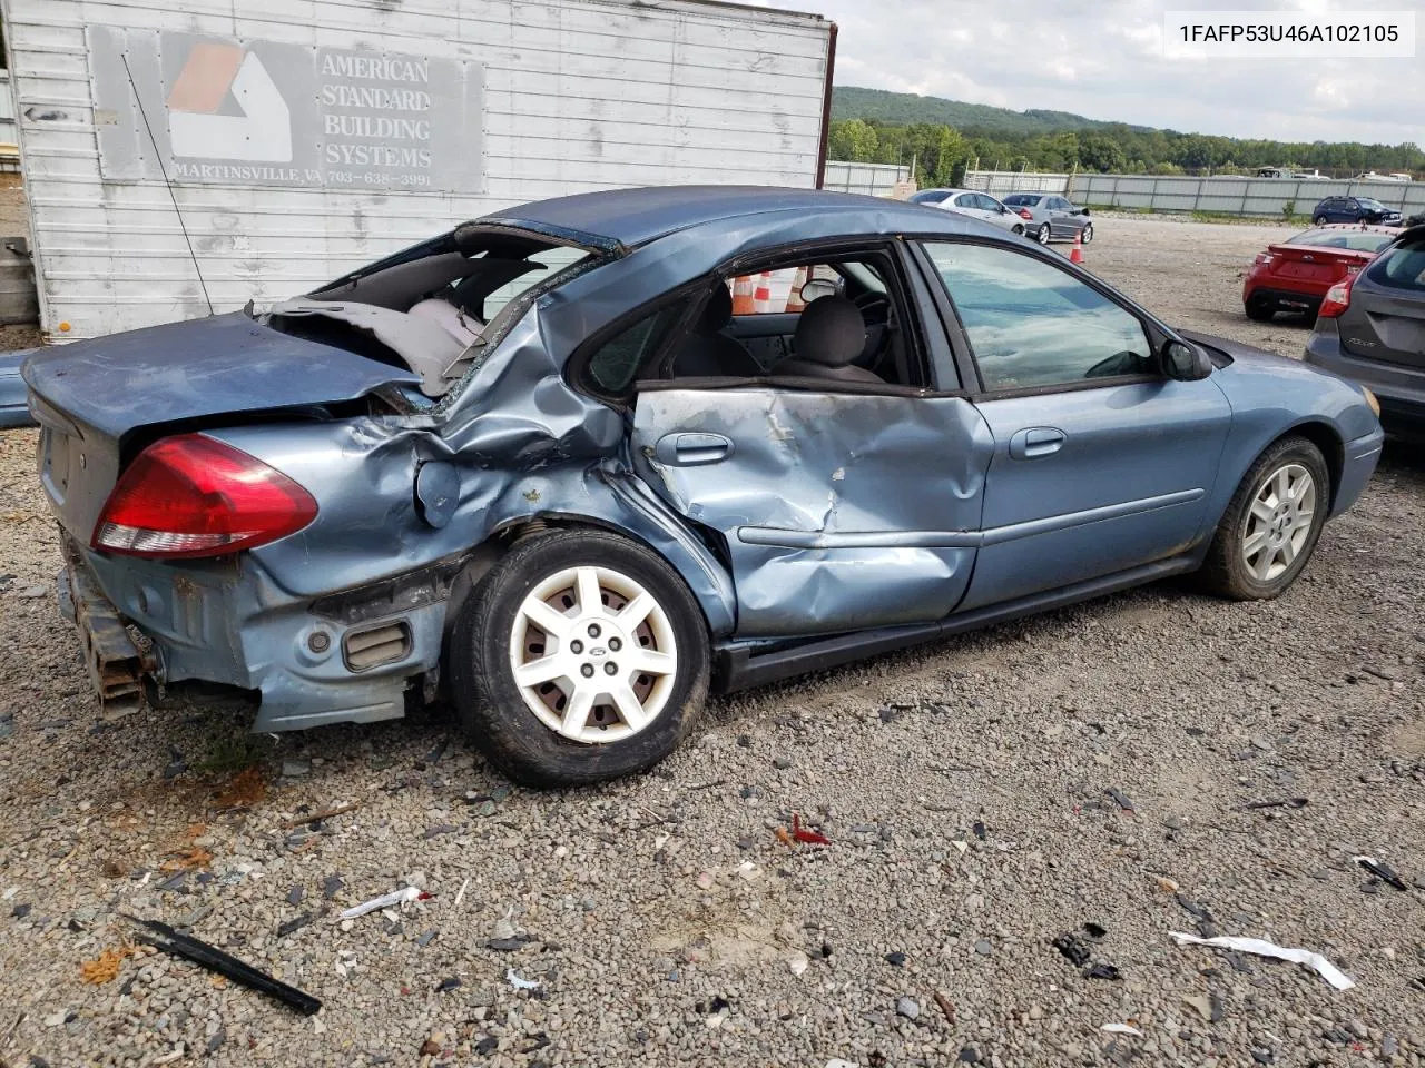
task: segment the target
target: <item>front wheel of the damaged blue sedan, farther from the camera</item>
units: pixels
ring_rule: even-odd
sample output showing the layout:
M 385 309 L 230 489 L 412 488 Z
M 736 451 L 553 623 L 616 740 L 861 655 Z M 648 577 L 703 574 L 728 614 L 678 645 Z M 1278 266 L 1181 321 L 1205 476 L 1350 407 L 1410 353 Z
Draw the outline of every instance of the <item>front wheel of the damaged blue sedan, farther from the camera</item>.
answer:
M 1243 477 L 1217 524 L 1198 572 L 1201 585 L 1234 601 L 1278 597 L 1311 558 L 1330 501 L 1321 450 L 1297 436 L 1275 441 Z

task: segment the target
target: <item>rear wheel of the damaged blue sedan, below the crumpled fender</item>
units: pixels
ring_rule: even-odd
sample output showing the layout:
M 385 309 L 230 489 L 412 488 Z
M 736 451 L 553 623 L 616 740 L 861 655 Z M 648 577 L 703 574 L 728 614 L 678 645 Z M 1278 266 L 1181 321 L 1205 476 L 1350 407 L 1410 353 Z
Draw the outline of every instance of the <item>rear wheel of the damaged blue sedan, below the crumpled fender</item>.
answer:
M 708 692 L 703 611 L 643 545 L 593 530 L 514 545 L 456 619 L 460 723 L 500 770 L 579 786 L 647 770 Z

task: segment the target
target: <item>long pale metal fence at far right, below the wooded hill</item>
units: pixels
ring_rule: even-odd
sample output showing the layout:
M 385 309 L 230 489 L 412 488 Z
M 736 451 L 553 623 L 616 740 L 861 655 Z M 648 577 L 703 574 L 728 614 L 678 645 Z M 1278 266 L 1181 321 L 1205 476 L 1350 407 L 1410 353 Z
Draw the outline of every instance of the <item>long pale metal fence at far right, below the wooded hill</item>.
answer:
M 1372 197 L 1406 216 L 1425 211 L 1425 182 L 1079 174 L 1069 197 L 1079 204 L 1224 215 L 1281 216 L 1288 204 L 1297 215 L 1310 215 L 1327 197 Z

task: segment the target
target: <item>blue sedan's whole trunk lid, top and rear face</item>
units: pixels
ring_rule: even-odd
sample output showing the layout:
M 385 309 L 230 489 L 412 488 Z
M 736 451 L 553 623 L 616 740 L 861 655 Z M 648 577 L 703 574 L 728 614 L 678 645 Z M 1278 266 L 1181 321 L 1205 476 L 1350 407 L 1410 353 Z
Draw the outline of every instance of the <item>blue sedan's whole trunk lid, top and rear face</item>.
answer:
M 60 523 L 83 544 L 138 437 L 420 382 L 405 367 L 281 333 L 242 312 L 47 349 L 23 373 L 41 426 L 40 478 Z

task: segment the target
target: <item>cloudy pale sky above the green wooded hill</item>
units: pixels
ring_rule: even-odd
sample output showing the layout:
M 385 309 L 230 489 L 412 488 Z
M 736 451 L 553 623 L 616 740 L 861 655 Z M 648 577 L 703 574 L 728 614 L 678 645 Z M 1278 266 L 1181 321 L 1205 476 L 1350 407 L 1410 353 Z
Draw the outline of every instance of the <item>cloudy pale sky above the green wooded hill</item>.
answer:
M 1201 0 L 760 0 L 839 26 L 836 84 L 1180 131 L 1425 145 L 1415 58 L 1166 60 L 1163 16 Z M 1237 10 L 1416 10 L 1421 0 L 1235 0 Z

